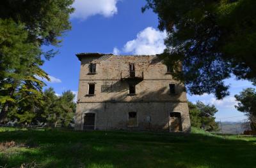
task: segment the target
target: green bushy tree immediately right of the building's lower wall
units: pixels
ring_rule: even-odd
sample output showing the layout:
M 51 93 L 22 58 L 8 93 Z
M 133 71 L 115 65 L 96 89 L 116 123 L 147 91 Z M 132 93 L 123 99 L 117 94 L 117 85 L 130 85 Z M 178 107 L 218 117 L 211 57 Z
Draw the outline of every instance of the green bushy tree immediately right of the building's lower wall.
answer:
M 207 131 L 218 130 L 218 123 L 215 122 L 215 113 L 218 111 L 214 105 L 205 105 L 203 102 L 193 104 L 189 102 L 189 117 L 191 126 L 202 128 Z

